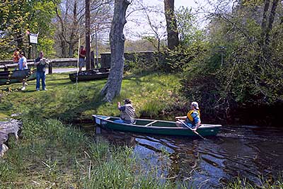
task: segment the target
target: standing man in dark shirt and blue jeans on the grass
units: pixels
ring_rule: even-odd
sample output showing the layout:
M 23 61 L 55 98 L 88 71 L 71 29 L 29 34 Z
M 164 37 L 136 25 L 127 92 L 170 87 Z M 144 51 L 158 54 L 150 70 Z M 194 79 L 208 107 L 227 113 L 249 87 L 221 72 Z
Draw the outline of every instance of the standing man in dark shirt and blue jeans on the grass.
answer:
M 46 85 L 45 85 L 45 70 L 46 65 L 48 64 L 47 59 L 43 57 L 43 52 L 40 51 L 39 57 L 35 59 L 35 65 L 36 65 L 36 91 L 40 91 L 40 79 L 42 84 L 42 90 L 47 91 Z

